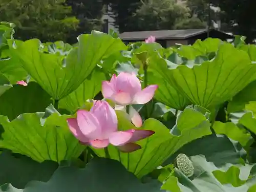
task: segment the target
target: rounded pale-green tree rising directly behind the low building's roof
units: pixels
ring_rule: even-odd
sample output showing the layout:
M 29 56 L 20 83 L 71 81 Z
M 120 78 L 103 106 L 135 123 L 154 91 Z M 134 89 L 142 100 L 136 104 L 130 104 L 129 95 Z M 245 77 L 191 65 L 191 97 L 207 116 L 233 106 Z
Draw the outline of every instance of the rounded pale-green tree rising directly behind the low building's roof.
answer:
M 199 19 L 190 18 L 189 12 L 186 6 L 173 0 L 148 0 L 133 19 L 138 31 L 204 28 Z

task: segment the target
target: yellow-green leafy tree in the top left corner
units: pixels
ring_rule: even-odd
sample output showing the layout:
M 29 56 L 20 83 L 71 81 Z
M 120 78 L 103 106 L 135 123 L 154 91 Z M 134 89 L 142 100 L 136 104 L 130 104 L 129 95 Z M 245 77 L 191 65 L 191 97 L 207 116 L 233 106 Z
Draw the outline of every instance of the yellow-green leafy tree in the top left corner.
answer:
M 16 25 L 15 38 L 66 39 L 78 26 L 64 0 L 1 0 L 0 18 Z

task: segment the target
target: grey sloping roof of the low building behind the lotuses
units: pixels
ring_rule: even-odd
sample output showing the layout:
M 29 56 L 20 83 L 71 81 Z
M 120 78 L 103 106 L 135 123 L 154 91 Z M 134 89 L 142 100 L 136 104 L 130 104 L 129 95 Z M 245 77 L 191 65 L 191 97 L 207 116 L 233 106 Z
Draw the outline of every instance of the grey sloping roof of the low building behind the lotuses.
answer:
M 227 38 L 233 38 L 224 32 L 211 29 L 224 34 Z M 186 39 L 202 33 L 207 33 L 207 29 L 180 29 L 180 30 L 159 30 L 159 31 L 133 31 L 123 32 L 119 36 L 122 40 L 144 40 L 149 36 L 155 36 L 156 39 Z

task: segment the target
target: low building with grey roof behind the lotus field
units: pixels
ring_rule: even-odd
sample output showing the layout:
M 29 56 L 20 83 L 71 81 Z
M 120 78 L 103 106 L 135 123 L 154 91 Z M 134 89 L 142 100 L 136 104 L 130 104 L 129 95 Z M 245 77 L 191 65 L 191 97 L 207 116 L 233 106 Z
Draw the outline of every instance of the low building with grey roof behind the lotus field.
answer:
M 170 47 L 175 44 L 191 45 L 197 39 L 204 40 L 208 36 L 212 38 L 219 38 L 221 40 L 230 40 L 234 36 L 221 32 L 215 29 L 181 29 L 181 30 L 160 30 L 160 31 L 133 31 L 123 32 L 119 36 L 126 42 L 144 41 L 149 36 L 155 36 L 156 41 L 162 47 Z

